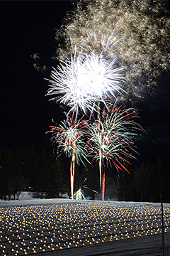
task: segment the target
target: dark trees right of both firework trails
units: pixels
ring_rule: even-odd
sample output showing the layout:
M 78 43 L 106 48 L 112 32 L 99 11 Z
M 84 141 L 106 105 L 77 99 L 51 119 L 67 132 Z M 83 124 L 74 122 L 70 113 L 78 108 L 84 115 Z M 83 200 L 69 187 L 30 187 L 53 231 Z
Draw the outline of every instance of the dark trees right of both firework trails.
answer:
M 170 176 L 164 170 L 161 156 L 155 164 L 143 162 L 132 168 L 130 174 L 125 171 L 120 174 L 119 201 L 160 202 L 160 196 L 170 203 Z

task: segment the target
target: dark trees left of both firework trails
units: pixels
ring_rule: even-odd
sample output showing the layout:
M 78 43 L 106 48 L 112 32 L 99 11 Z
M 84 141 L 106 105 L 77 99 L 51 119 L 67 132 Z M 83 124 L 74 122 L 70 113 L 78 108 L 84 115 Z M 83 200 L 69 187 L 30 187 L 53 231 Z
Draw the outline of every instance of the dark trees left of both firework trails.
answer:
M 56 197 L 67 191 L 66 175 L 62 159 L 56 160 L 55 155 L 47 154 L 45 148 L 40 154 L 33 148 L 22 149 L 20 146 L 15 152 L 0 150 L 1 199 L 10 200 L 11 196 L 18 199 L 24 190 Z

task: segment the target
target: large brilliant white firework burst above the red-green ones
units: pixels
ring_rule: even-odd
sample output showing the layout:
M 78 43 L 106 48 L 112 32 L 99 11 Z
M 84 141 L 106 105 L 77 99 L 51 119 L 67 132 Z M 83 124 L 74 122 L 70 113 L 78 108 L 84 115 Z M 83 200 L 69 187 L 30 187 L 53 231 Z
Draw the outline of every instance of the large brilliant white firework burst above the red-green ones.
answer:
M 87 54 L 81 47 L 79 53 L 74 51 L 70 60 L 67 58 L 57 69 L 53 68 L 47 95 L 70 107 L 68 114 L 75 110 L 77 113 L 97 111 L 98 101 L 107 106 L 111 97 L 124 93 L 124 67 L 117 67 L 116 58 L 112 59 L 110 52 L 106 55 L 109 42 L 99 55 L 92 50 Z

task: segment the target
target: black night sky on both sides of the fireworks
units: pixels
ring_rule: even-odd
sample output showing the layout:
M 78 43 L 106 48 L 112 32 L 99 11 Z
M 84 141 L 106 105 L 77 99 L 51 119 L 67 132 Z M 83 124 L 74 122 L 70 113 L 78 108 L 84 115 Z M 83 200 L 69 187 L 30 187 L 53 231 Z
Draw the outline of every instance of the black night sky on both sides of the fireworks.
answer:
M 71 1 L 0 1 L 1 12 L 1 133 L 0 148 L 18 145 L 50 149 L 52 118 L 62 119 L 57 105 L 45 97 L 50 73 L 38 73 L 30 55 L 40 53 L 41 64 L 55 66 L 50 57 L 57 42 L 53 28 L 62 23 Z M 161 155 L 168 168 L 170 156 L 170 75 L 159 80 L 157 96 L 139 103 L 140 123 L 148 134 L 137 142 L 139 162 Z M 164 88 L 163 88 L 164 87 Z M 64 116 L 63 116 L 64 117 Z

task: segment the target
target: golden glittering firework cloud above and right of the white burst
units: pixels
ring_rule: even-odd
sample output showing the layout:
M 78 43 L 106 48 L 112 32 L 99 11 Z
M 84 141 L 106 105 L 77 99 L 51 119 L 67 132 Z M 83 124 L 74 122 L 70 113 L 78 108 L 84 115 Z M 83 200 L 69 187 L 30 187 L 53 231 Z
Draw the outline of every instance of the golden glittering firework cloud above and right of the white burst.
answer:
M 118 58 L 119 66 L 126 66 L 123 89 L 129 95 L 143 98 L 154 94 L 155 78 L 169 70 L 170 16 L 166 0 L 80 0 L 57 29 L 59 60 L 72 53 L 72 43 L 79 50 L 83 45 L 89 53 L 101 53 L 116 28 L 117 41 L 110 43 L 105 53 Z M 89 33 L 90 31 L 90 33 Z M 116 48 L 116 52 L 113 49 Z M 125 95 L 124 95 L 125 96 Z

